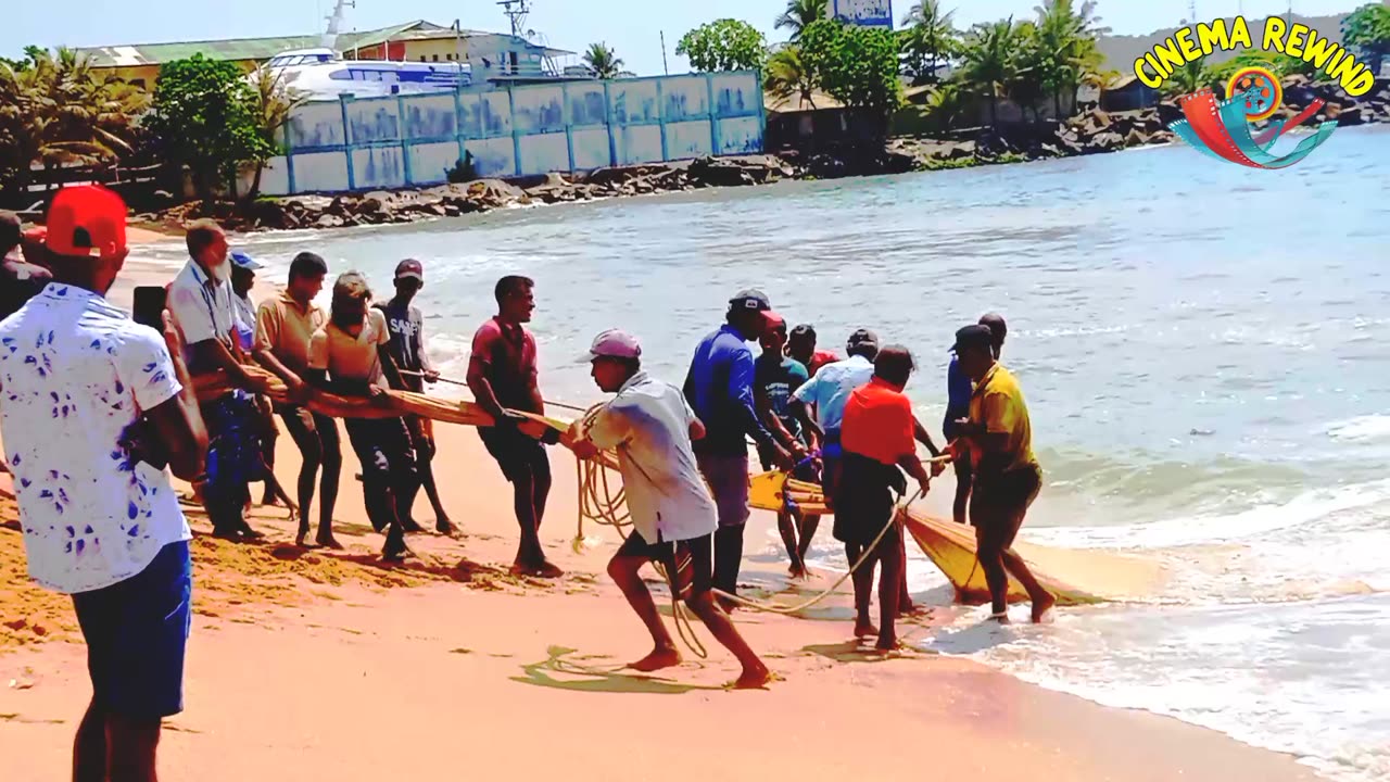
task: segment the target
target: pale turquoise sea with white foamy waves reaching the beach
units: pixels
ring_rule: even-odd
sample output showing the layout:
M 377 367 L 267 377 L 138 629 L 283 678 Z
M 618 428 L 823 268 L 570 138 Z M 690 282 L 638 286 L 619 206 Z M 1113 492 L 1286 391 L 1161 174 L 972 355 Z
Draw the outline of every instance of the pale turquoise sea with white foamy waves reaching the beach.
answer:
M 1361 781 L 1390 778 L 1387 182 L 1390 129 L 1355 128 L 1279 173 L 1173 146 L 247 246 L 265 276 L 313 249 L 382 295 L 398 260 L 423 260 L 453 374 L 496 278 L 528 274 L 546 395 L 581 404 L 595 333 L 637 333 L 678 383 L 723 302 L 756 285 L 824 345 L 865 326 L 910 346 L 909 394 L 935 424 L 952 333 L 998 310 L 1047 473 L 1026 537 L 1152 557 L 1172 579 L 1161 605 L 1042 628 L 991 635 L 963 612 L 930 646 Z M 844 565 L 828 530 L 816 552 Z M 944 594 L 929 564 L 912 575 Z

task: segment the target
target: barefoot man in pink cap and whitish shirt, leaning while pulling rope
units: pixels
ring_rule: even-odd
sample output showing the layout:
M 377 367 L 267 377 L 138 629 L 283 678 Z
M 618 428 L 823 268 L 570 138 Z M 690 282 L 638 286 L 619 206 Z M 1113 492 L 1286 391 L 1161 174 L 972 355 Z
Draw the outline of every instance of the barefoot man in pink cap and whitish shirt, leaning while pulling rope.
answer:
M 705 436 L 705 427 L 680 388 L 642 372 L 641 355 L 637 338 L 623 331 L 605 331 L 594 340 L 589 348 L 594 381 L 617 397 L 594 415 L 587 433 L 580 433 L 581 424 L 575 424 L 580 437 L 574 442 L 574 454 L 581 459 L 616 448 L 623 470 L 632 534 L 607 570 L 656 646 L 631 668 L 651 672 L 681 662 L 676 641 L 638 570 L 648 562 L 659 562 L 674 577 L 677 561 L 688 558 L 689 591 L 681 590 L 685 605 L 744 667 L 734 686 L 762 687 L 770 678 L 767 667 L 738 635 L 710 591 L 719 511 L 691 447 L 691 440 Z M 678 583 L 685 580 L 680 577 Z

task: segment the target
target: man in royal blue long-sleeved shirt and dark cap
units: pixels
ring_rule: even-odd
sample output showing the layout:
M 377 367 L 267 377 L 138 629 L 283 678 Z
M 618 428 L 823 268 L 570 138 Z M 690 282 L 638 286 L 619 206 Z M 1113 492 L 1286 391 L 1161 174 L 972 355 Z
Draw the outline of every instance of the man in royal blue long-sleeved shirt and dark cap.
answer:
M 705 438 L 695 444 L 701 473 L 709 481 L 719 506 L 714 533 L 714 587 L 738 591 L 738 569 L 744 559 L 744 527 L 748 523 L 748 442 L 783 468 L 791 456 L 758 416 L 753 401 L 753 352 L 748 342 L 762 338 L 771 303 L 762 291 L 739 291 L 728 301 L 726 323 L 705 337 L 695 349 L 685 398 L 703 422 Z M 726 601 L 724 608 L 733 603 Z

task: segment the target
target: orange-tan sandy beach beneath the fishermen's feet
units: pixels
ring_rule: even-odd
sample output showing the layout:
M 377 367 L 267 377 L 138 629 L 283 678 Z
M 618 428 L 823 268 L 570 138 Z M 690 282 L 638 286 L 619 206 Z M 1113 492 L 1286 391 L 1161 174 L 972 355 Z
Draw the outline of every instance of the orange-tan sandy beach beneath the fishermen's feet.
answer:
M 168 273 L 131 263 L 113 299 L 128 303 L 129 288 Z M 542 529 L 569 575 L 518 579 L 506 572 L 517 537 L 509 486 L 475 433 L 436 433 L 435 474 L 461 536 L 411 536 L 418 558 L 406 565 L 378 562 L 381 538 L 366 523 L 346 440 L 338 530 L 348 551 L 295 550 L 282 508 L 257 508 L 263 544 L 213 540 L 190 512 L 186 711 L 165 722 L 165 779 L 1314 778 L 1291 757 L 967 661 L 874 658 L 849 637 L 848 594 L 806 618 L 735 615 L 783 679 L 764 692 L 726 692 L 737 665 L 701 628 L 708 660 L 687 654 L 655 676 L 621 671 L 649 641 L 603 573 L 616 533 L 582 554 L 570 547 L 573 456 L 550 452 L 556 481 Z M 292 487 L 297 468 L 281 437 L 281 483 Z M 949 494 L 948 479 L 937 486 Z M 417 518 L 432 526 L 424 497 Z M 64 779 L 90 694 L 85 650 L 70 601 L 25 577 L 13 502 L 0 501 L 0 754 L 8 779 Z M 749 536 L 773 523 L 755 512 Z M 817 573 L 795 591 L 833 580 Z M 755 596 L 788 591 L 785 565 L 771 558 L 751 558 L 742 582 Z M 929 612 L 901 633 L 913 641 L 938 626 Z

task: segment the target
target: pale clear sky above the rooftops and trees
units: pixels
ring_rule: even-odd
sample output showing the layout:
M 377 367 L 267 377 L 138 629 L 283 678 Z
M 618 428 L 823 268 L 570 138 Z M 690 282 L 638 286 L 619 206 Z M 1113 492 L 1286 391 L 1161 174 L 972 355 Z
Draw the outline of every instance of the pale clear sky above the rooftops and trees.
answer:
M 1294 0 L 1304 15 L 1350 11 L 1365 0 Z M 106 46 L 270 35 L 317 35 L 332 0 L 4 0 L 0 17 L 0 54 L 18 56 L 25 45 Z M 958 26 L 1033 14 L 1037 0 L 945 0 L 956 8 Z M 910 0 L 894 0 L 901 18 Z M 628 70 L 642 75 L 662 72 L 660 33 L 671 72 L 688 70 L 676 57 L 681 35 L 706 21 L 734 17 L 762 29 L 769 42 L 783 40 L 773 19 L 785 0 L 532 0 L 527 28 L 541 32 L 557 49 L 582 51 L 592 42 L 607 42 Z M 1287 0 L 1197 0 L 1201 18 L 1282 14 Z M 1173 26 L 1187 17 L 1187 0 L 1099 0 L 1099 17 L 1116 33 L 1150 33 Z M 506 31 L 502 8 L 493 0 L 357 0 L 348 8 L 348 29 L 373 29 L 413 19 L 439 25 L 460 19 L 464 28 Z

